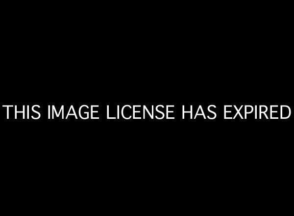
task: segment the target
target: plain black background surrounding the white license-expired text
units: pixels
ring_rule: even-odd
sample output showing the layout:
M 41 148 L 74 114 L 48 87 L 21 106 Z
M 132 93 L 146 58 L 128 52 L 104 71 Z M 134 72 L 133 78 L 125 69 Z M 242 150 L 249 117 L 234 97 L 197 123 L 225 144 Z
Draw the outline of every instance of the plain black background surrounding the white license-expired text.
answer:
M 82 212 L 280 211 L 291 191 L 293 117 L 225 121 L 222 106 L 293 108 L 290 14 L 257 5 L 121 6 L 9 10 L 1 105 L 174 104 L 177 119 L 2 118 L 5 202 Z M 220 110 L 215 121 L 180 120 L 181 105 L 210 104 Z

